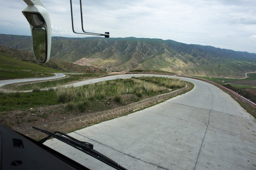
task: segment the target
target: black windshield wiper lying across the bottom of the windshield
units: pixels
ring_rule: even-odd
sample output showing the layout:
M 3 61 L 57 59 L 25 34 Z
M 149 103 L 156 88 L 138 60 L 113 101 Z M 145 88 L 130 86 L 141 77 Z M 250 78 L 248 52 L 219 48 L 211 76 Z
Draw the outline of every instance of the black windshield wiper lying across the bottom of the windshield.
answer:
M 62 132 L 59 132 L 59 131 L 56 131 L 56 132 L 52 133 L 52 132 L 49 132 L 47 130 L 40 129 L 38 127 L 33 127 L 33 128 L 49 135 L 49 136 L 43 138 L 42 140 L 38 141 L 41 144 L 43 144 L 50 137 L 54 137 L 54 138 L 57 138 L 58 140 L 60 140 L 64 143 L 69 144 L 69 145 L 75 147 L 76 149 L 78 149 L 78 150 L 96 158 L 97 160 L 104 162 L 105 164 L 115 168 L 116 170 L 126 170 L 125 168 L 123 168 L 121 165 L 119 165 L 115 161 L 113 161 L 110 158 L 104 156 L 102 153 L 99 153 L 99 152 L 95 151 L 93 149 L 93 144 L 83 142 L 83 141 L 79 141 L 76 138 L 68 136 L 65 133 L 62 133 Z M 60 135 L 58 135 L 58 134 L 60 134 Z

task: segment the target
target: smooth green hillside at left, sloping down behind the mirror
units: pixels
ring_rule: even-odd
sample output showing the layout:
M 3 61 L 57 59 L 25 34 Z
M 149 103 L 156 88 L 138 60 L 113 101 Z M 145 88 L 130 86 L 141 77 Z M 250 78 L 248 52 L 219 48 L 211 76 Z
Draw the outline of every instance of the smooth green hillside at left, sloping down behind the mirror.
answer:
M 50 59 L 47 64 L 38 64 L 30 52 L 0 46 L 0 80 L 53 76 L 55 72 L 104 73 L 103 69 L 84 67 Z

